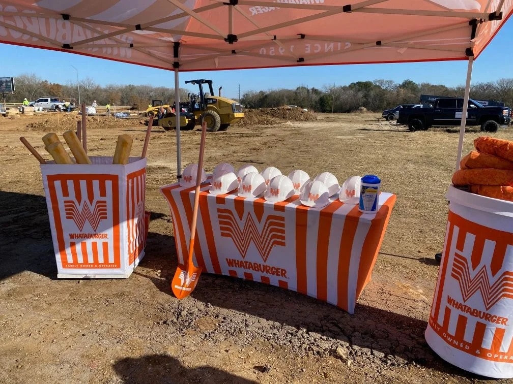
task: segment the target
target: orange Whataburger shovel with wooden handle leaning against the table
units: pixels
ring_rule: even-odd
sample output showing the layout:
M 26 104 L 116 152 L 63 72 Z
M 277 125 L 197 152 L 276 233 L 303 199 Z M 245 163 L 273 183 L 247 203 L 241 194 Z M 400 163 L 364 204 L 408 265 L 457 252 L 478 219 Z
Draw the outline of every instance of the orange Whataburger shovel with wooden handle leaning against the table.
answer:
M 194 266 L 192 253 L 194 252 L 194 236 L 196 232 L 196 219 L 198 218 L 198 206 L 200 205 L 201 170 L 203 169 L 203 150 L 205 148 L 205 136 L 207 123 L 201 127 L 200 158 L 198 159 L 198 174 L 196 175 L 196 190 L 194 191 L 194 209 L 192 210 L 191 237 L 189 240 L 189 258 L 187 264 L 179 264 L 171 281 L 171 290 L 174 295 L 182 299 L 187 297 L 198 284 L 201 268 Z

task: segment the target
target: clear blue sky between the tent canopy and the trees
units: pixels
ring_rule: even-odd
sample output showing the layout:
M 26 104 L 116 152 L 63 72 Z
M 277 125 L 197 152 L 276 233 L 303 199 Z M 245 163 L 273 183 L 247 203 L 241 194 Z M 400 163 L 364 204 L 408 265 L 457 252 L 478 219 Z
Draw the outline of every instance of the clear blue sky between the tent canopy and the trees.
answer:
M 479 58 L 473 63 L 472 82 L 513 78 L 513 20 L 508 20 Z M 89 77 L 100 86 L 107 84 L 151 84 L 174 88 L 172 71 L 96 59 L 71 53 L 0 44 L 0 77 L 35 74 L 43 80 L 61 84 L 76 83 L 78 77 Z M 214 89 L 223 87 L 223 96 L 238 98 L 247 91 L 295 89 L 299 86 L 322 89 L 324 86 L 344 86 L 354 81 L 375 79 L 401 83 L 410 79 L 456 87 L 465 84 L 466 61 L 437 61 L 425 63 L 365 64 L 273 68 L 237 71 L 183 72 L 185 80 L 212 79 Z M 14 79 L 16 81 L 16 79 Z M 195 90 L 195 89 L 194 89 Z

